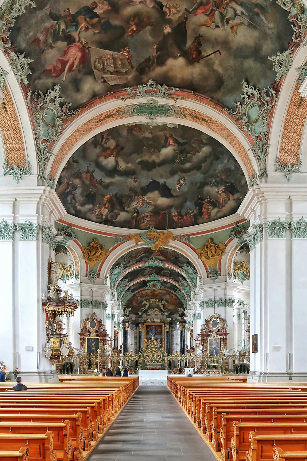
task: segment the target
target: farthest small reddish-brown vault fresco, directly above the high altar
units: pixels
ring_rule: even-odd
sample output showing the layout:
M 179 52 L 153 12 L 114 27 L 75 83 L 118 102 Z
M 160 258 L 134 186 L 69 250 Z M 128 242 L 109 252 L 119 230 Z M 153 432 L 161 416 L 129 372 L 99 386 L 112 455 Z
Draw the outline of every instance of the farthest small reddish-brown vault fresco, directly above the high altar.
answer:
M 180 310 L 183 308 L 183 304 L 180 299 L 174 295 L 171 291 L 168 290 L 139 290 L 133 296 L 129 298 L 126 302 L 126 308 L 131 309 L 129 314 L 137 315 L 139 312 L 142 312 L 142 309 L 145 309 L 146 304 L 145 300 L 158 299 L 159 301 L 165 301 L 162 303 L 162 308 L 157 303 L 152 303 L 148 306 L 149 309 L 157 308 L 161 313 L 163 309 L 167 309 L 168 314 L 180 314 Z M 158 302 L 159 302 L 158 301 Z M 144 304 L 143 304 L 144 303 Z M 146 311 L 147 312 L 147 311 Z

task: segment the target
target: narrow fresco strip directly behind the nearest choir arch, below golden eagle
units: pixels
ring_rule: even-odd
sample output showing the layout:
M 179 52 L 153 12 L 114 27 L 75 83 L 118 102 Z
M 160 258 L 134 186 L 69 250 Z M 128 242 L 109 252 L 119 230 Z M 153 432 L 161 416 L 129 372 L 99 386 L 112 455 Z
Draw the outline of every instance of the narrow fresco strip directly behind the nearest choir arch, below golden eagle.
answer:
M 169 248 L 163 248 L 155 252 L 149 247 L 143 247 L 135 248 L 134 250 L 129 251 L 129 253 L 121 256 L 114 263 L 112 269 L 119 265 L 127 268 L 138 262 L 146 262 L 151 258 L 155 258 L 159 261 L 170 262 L 180 267 L 182 267 L 184 264 L 188 264 L 189 266 L 192 265 L 191 261 L 178 251 L 170 250 Z

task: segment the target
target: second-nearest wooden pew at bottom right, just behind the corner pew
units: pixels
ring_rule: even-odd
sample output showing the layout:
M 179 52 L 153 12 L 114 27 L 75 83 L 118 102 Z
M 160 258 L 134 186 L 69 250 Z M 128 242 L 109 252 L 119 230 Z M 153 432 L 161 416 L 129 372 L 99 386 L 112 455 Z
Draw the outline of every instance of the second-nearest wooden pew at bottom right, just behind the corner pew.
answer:
M 279 447 L 284 451 L 307 451 L 305 434 L 257 434 L 249 432 L 249 449 L 246 461 L 272 461 L 272 449 Z

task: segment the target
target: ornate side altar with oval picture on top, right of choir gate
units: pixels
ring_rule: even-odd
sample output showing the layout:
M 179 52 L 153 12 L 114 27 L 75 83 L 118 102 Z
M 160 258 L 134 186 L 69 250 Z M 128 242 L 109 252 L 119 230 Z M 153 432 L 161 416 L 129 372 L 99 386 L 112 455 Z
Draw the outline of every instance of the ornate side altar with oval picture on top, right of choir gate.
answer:
M 227 349 L 227 323 L 219 314 L 213 314 L 205 320 L 200 334 L 197 335 L 205 355 L 219 355 Z

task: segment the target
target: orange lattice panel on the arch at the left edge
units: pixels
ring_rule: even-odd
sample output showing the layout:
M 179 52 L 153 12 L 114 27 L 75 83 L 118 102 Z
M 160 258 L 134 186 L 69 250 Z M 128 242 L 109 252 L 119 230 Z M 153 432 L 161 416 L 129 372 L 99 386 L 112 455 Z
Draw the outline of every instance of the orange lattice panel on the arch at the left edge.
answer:
M 9 165 L 22 166 L 26 162 L 23 136 L 11 93 L 6 86 L 4 104 L 0 104 L 0 128 Z

